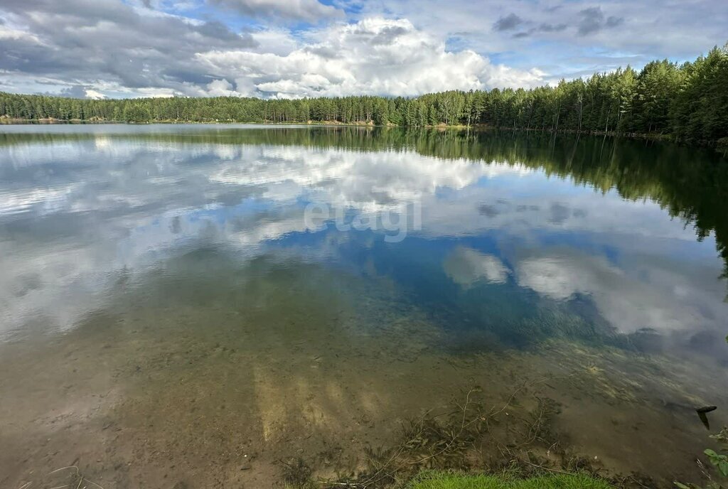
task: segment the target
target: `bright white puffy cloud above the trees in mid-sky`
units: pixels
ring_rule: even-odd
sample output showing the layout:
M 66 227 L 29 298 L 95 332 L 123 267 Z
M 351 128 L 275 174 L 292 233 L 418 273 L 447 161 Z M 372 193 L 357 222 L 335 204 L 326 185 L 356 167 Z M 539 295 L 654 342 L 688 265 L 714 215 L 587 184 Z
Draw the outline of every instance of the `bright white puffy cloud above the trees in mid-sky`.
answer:
M 442 90 L 533 87 L 544 82 L 538 70 L 494 65 L 445 44 L 409 20 L 372 17 L 331 25 L 314 40 L 285 55 L 252 49 L 197 54 L 208 72 L 225 80 L 252 82 L 282 98 L 342 95 L 419 95 Z M 257 40 L 257 39 L 256 39 Z

